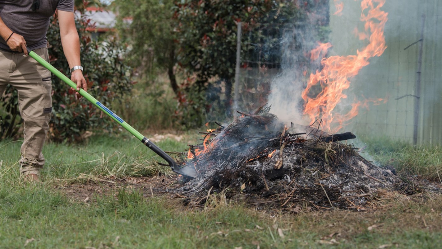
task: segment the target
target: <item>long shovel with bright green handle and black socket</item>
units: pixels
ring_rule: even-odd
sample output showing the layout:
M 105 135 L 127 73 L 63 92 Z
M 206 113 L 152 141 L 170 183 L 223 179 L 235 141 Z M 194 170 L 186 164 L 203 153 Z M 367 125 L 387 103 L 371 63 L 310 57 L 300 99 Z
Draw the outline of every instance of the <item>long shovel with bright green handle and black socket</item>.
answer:
M 50 65 L 45 59 L 40 57 L 38 54 L 36 54 L 34 51 L 30 50 L 29 47 L 27 47 L 27 51 L 30 57 L 34 58 L 36 61 L 38 61 L 40 64 L 42 64 L 44 67 L 49 69 L 55 76 L 60 78 L 61 80 L 65 81 L 70 87 L 76 89 L 77 84 L 74 83 L 72 80 L 70 80 L 68 77 L 66 77 L 63 73 L 58 71 L 56 68 L 54 68 L 52 65 Z M 81 96 L 89 100 L 91 103 L 93 103 L 96 107 L 98 107 L 101 111 L 106 113 L 111 119 L 114 119 L 117 123 L 119 123 L 121 126 L 123 126 L 127 131 L 129 131 L 132 135 L 134 135 L 136 138 L 138 138 L 145 146 L 149 147 L 149 149 L 152 149 L 153 152 L 155 152 L 157 155 L 162 157 L 164 160 L 166 160 L 171 167 L 173 172 L 176 172 L 178 174 L 181 174 L 183 176 L 188 176 L 191 178 L 196 177 L 196 171 L 191 166 L 186 166 L 183 168 L 180 168 L 176 162 L 162 149 L 160 149 L 158 146 L 156 146 L 152 141 L 149 140 L 149 138 L 146 138 L 141 133 L 139 133 L 137 130 L 135 130 L 132 126 L 130 126 L 128 123 L 124 122 L 123 119 L 118 117 L 118 115 L 114 114 L 112 111 L 110 111 L 107 107 L 105 107 L 102 103 L 100 103 L 98 100 L 96 100 L 94 97 L 92 97 L 88 92 L 84 91 L 83 89 L 80 89 L 80 91 L 77 91 L 80 93 Z

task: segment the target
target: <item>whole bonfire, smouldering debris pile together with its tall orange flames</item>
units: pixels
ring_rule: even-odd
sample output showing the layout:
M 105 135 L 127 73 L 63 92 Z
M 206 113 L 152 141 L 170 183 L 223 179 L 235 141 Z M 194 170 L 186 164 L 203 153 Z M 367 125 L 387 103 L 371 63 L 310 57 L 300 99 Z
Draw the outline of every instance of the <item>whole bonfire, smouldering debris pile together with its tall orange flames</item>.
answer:
M 347 98 L 344 91 L 350 87 L 350 79 L 369 64 L 370 58 L 381 56 L 386 49 L 384 28 L 388 13 L 381 10 L 384 4 L 385 0 L 362 1 L 365 31 L 358 35 L 367 44 L 356 54 L 326 57 L 331 44 L 321 42 L 310 52 L 312 61 L 321 58 L 320 69 L 310 73 L 301 97 L 303 116 L 316 125 L 284 124 L 271 114 L 270 107 L 251 114 L 239 112 L 232 123 L 207 130 L 202 144 L 190 146 L 182 154 L 178 161 L 194 167 L 197 177 L 182 176 L 183 185 L 175 192 L 197 205 L 210 194 L 223 193 L 228 199 L 240 198 L 259 208 L 299 211 L 365 210 L 382 193 L 420 191 L 425 184 L 415 188 L 415 183 L 396 175 L 394 169 L 366 160 L 348 142 L 356 138 L 354 134 L 321 131 L 342 130 L 358 114 L 359 107 L 386 101 L 366 99 L 352 103 L 348 112 L 334 110 L 341 99 Z M 433 187 L 427 184 L 427 188 Z

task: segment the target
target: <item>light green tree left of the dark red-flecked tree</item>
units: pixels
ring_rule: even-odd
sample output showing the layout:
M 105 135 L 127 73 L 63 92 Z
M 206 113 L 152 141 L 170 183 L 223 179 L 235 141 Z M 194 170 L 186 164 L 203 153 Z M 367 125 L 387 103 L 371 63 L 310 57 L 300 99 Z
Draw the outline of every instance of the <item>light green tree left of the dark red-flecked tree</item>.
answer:
M 141 74 L 152 76 L 156 70 L 167 70 L 171 88 L 178 93 L 175 77 L 175 38 L 172 19 L 173 0 L 115 0 L 120 38 L 132 47 L 127 61 L 141 68 Z

